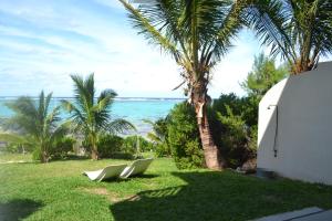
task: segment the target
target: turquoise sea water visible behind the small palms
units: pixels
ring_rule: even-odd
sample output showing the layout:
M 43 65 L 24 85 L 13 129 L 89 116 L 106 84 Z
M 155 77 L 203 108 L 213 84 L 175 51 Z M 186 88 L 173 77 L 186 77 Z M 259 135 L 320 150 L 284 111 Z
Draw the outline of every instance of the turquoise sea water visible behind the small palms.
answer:
M 0 98 L 0 118 L 12 116 L 12 112 L 4 105 L 12 102 L 12 97 Z M 66 98 L 71 99 L 71 98 Z M 60 104 L 61 98 L 53 98 L 51 107 Z M 173 98 L 116 98 L 112 106 L 113 118 L 124 118 L 133 123 L 141 135 L 145 135 L 151 130 L 151 126 L 143 119 L 155 120 L 159 117 L 165 117 L 177 103 L 183 99 Z M 62 113 L 65 118 L 66 114 Z

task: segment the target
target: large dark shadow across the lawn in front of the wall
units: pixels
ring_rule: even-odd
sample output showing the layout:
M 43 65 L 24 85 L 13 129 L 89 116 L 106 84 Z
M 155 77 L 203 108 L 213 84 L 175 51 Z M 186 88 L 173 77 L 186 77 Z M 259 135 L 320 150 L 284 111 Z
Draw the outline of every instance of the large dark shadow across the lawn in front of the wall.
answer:
M 332 189 L 287 180 L 261 180 L 230 171 L 174 172 L 186 186 L 142 191 L 110 206 L 115 220 L 250 220 L 303 207 L 332 207 Z M 308 189 L 308 190 L 307 190 Z M 309 192 L 308 192 L 309 191 Z M 319 192 L 320 197 L 314 196 Z

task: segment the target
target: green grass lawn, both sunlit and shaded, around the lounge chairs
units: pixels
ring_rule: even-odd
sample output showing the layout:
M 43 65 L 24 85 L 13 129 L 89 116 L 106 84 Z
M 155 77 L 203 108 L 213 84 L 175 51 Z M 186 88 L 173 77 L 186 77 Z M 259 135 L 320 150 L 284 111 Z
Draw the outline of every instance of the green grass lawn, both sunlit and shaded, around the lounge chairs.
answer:
M 1 158 L 1 157 L 0 157 Z M 0 220 L 249 220 L 318 206 L 332 208 L 332 188 L 232 171 L 176 169 L 156 159 L 127 180 L 82 176 L 123 160 L 0 165 Z

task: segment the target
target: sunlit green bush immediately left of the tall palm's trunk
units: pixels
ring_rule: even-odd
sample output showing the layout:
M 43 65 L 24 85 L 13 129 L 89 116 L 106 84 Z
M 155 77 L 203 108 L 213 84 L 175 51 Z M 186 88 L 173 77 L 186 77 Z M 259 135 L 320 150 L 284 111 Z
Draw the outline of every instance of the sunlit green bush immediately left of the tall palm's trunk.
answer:
M 196 114 L 188 103 L 177 104 L 170 110 L 168 143 L 178 168 L 197 168 L 204 165 Z

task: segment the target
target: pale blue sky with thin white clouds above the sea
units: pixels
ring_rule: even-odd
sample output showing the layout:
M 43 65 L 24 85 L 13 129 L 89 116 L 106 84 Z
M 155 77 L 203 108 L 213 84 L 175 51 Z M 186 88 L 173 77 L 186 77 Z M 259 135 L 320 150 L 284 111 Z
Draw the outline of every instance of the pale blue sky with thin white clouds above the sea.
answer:
M 212 71 L 209 95 L 234 92 L 263 49 L 243 30 Z M 0 96 L 72 96 L 71 74 L 95 74 L 97 92 L 184 97 L 179 67 L 133 29 L 117 0 L 0 0 Z

